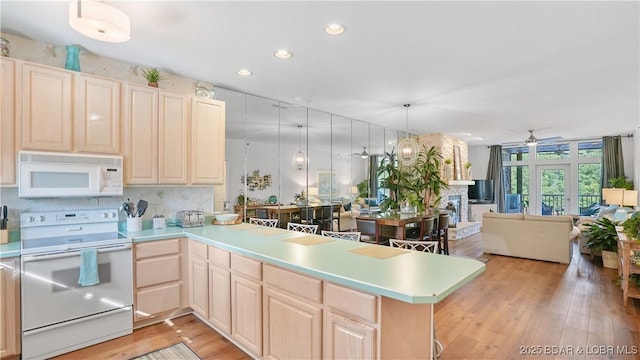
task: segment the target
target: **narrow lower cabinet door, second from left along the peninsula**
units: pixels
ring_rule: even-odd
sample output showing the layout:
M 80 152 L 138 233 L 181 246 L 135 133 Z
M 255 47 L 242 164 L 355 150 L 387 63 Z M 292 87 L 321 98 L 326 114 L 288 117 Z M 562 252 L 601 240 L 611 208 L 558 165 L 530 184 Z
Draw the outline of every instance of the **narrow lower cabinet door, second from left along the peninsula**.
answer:
M 231 333 L 231 272 L 209 265 L 209 321 Z

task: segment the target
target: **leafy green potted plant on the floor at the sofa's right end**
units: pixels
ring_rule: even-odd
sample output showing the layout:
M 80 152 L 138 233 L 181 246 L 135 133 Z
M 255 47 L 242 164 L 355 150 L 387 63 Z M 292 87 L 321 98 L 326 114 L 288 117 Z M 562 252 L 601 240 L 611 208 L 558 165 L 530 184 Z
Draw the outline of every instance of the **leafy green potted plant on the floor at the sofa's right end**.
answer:
M 602 255 L 602 264 L 606 268 L 618 268 L 618 233 L 616 222 L 603 217 L 584 225 L 585 236 L 588 238 L 585 247 L 592 255 Z

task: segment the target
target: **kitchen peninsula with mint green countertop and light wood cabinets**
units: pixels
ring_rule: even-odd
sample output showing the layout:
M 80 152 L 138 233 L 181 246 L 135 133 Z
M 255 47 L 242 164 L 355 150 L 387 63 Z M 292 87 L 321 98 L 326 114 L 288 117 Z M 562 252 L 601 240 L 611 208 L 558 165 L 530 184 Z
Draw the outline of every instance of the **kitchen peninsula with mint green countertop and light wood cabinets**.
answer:
M 187 242 L 189 306 L 255 358 L 433 358 L 434 304 L 485 270 L 244 223 L 129 235 Z

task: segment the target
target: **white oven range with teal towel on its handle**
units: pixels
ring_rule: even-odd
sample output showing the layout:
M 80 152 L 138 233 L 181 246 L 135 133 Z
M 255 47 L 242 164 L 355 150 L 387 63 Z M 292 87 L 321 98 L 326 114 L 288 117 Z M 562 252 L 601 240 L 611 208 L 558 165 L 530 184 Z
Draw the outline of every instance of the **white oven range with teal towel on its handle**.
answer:
M 133 331 L 131 238 L 118 210 L 22 213 L 22 358 L 45 359 Z M 81 286 L 81 252 L 99 283 Z M 86 263 L 85 263 L 86 266 Z

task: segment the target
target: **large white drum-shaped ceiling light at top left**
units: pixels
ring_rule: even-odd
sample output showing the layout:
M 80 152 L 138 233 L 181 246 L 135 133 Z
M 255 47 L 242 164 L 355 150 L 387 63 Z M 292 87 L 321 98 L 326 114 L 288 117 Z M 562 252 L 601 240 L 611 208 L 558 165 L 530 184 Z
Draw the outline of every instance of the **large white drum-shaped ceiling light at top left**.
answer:
M 92 39 L 120 43 L 131 39 L 131 19 L 113 6 L 94 0 L 69 3 L 69 25 Z

